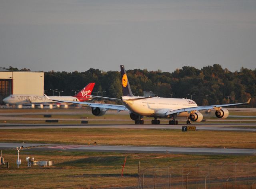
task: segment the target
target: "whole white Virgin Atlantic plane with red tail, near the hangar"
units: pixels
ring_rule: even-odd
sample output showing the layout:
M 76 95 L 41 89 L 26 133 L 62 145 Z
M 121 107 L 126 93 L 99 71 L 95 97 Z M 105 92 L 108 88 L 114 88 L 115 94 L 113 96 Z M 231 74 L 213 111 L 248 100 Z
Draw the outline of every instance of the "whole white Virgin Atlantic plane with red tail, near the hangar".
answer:
M 95 83 L 89 83 L 82 89 L 77 95 L 75 96 L 50 96 L 51 99 L 58 99 L 58 100 L 68 100 L 68 101 L 78 101 L 84 102 L 86 100 L 91 100 L 92 97 L 88 96 L 92 93 Z M 23 105 L 31 105 L 34 108 L 35 105 L 51 105 L 52 107 L 52 100 L 46 98 L 46 96 L 39 96 L 39 95 L 10 95 L 3 99 L 5 104 L 23 104 Z M 56 103 L 56 102 L 54 102 Z M 66 102 L 65 102 L 66 103 Z

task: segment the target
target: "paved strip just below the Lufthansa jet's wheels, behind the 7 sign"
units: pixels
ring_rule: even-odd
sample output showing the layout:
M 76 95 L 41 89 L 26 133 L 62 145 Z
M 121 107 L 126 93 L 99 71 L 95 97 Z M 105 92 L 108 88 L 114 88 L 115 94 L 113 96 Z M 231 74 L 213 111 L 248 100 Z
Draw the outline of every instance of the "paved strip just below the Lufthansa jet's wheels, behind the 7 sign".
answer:
M 196 130 L 220 130 L 237 132 L 256 132 L 256 123 L 225 123 L 225 124 L 0 124 L 0 129 L 50 129 L 50 128 L 132 128 L 132 129 L 182 129 L 182 126 L 196 126 Z

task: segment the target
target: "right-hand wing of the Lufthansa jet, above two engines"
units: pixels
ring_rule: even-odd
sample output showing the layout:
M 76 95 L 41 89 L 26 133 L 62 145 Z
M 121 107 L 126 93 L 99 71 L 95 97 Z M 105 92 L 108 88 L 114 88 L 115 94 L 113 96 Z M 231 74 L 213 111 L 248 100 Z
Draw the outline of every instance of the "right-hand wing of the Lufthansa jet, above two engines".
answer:
M 213 108 L 223 108 L 227 106 L 241 106 L 241 105 L 246 105 L 250 104 L 251 98 L 249 98 L 248 102 L 243 102 L 243 103 L 236 103 L 236 104 L 219 104 L 219 105 L 210 105 L 210 106 L 196 106 L 196 107 L 191 107 L 191 108 L 181 108 L 177 110 L 169 110 L 165 113 L 165 115 L 171 115 L 171 114 L 178 114 L 181 112 L 191 112 L 191 111 L 196 111 L 196 110 L 210 110 Z

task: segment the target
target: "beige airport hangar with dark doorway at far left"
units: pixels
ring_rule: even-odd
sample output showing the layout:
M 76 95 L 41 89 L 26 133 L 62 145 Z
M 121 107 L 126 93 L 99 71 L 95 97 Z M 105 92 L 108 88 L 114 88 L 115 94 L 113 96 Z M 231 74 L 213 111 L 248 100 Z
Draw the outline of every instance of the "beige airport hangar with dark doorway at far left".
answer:
M 0 104 L 9 95 L 44 95 L 44 72 L 9 71 L 0 67 Z

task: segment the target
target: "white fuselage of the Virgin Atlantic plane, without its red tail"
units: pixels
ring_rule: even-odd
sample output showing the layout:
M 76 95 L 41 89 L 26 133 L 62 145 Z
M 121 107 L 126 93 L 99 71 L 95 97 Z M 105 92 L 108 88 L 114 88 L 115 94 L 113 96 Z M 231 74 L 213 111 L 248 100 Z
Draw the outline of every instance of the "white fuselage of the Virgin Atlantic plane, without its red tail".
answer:
M 64 101 L 79 101 L 74 96 L 49 96 L 52 100 L 64 100 Z M 39 95 L 10 95 L 3 99 L 5 104 L 44 104 L 44 103 L 56 103 L 46 98 L 46 96 Z

